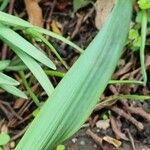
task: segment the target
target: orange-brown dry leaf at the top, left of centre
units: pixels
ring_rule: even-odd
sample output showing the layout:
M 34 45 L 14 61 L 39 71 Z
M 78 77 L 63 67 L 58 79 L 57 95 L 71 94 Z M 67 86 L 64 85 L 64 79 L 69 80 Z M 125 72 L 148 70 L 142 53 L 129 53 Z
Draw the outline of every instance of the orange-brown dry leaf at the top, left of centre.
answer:
M 24 0 L 30 23 L 35 26 L 43 27 L 42 9 L 38 0 Z

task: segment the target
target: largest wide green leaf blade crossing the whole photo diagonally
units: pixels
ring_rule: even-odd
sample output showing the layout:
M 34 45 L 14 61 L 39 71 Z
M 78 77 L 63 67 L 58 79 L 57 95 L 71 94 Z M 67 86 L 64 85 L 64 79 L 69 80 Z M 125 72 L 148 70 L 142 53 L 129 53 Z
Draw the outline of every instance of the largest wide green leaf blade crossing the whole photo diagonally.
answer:
M 117 0 L 106 24 L 56 87 L 15 150 L 52 150 L 86 121 L 122 53 L 132 2 Z

